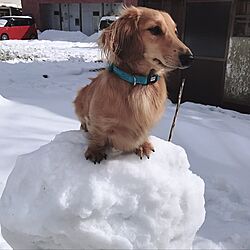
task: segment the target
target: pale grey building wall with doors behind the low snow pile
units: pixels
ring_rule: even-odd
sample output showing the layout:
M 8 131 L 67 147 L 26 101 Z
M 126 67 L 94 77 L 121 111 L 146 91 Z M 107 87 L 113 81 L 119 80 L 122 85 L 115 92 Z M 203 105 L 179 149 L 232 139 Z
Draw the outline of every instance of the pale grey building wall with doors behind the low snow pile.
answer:
M 98 31 L 103 15 L 119 14 L 121 8 L 121 3 L 40 4 L 39 29 L 82 31 L 86 35 L 92 35 Z

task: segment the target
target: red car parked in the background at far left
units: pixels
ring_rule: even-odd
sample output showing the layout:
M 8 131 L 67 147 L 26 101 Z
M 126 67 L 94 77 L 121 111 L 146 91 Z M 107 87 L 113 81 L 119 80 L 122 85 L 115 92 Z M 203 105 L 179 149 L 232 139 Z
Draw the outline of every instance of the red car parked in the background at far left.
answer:
M 30 16 L 0 17 L 0 40 L 37 39 L 35 21 Z

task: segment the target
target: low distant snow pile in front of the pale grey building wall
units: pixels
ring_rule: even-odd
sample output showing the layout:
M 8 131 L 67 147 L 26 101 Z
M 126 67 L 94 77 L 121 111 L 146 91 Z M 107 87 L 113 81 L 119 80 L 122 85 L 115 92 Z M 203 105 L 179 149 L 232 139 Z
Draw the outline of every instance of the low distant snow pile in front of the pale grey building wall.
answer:
M 39 40 L 83 42 L 88 36 L 80 31 L 45 30 Z

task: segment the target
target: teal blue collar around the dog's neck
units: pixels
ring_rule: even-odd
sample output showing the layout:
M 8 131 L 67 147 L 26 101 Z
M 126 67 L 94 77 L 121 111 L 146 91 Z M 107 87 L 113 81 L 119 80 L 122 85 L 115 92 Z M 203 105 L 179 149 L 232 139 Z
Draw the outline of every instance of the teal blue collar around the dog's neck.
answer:
M 157 74 L 149 74 L 148 76 L 138 76 L 138 75 L 130 75 L 123 70 L 116 67 L 114 64 L 110 64 L 108 67 L 109 72 L 113 72 L 122 80 L 129 82 L 133 85 L 140 84 L 140 85 L 148 85 L 156 83 L 160 76 Z

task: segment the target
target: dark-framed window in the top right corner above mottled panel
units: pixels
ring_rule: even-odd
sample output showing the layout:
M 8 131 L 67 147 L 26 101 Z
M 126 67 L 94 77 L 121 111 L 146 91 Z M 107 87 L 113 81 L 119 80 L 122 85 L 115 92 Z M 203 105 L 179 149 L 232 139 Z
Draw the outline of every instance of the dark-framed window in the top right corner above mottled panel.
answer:
M 250 37 L 250 0 L 237 2 L 233 36 Z

